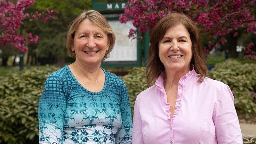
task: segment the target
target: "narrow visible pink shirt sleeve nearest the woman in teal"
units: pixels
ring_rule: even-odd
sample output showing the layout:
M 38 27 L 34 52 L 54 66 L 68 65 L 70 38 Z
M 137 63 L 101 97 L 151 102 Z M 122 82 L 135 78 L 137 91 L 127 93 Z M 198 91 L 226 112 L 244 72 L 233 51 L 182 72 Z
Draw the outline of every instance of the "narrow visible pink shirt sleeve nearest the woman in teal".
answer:
M 142 123 L 141 123 L 139 104 L 138 104 L 138 97 L 135 100 L 135 104 L 134 104 L 132 143 L 144 144 L 143 134 L 142 134 Z

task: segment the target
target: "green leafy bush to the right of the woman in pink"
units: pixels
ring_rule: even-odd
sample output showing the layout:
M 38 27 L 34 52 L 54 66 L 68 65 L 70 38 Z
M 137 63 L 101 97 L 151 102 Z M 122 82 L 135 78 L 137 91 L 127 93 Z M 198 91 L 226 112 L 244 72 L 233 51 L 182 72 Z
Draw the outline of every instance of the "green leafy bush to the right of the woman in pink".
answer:
M 207 76 L 227 84 L 235 97 L 237 113 L 256 116 L 256 65 L 228 59 L 218 63 Z

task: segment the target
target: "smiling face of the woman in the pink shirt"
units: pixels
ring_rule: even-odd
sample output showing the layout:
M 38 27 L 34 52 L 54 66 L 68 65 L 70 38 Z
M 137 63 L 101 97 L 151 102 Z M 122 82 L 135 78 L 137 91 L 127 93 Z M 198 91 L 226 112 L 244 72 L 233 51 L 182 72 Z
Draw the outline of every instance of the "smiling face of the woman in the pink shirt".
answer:
M 165 71 L 188 73 L 192 59 L 192 41 L 188 30 L 182 24 L 167 29 L 158 49 Z

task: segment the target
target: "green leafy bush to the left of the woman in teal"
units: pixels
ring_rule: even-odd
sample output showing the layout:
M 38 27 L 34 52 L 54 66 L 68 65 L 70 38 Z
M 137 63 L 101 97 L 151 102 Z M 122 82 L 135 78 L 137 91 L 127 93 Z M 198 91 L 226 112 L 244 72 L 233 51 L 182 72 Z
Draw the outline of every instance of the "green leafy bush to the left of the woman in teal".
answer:
M 46 77 L 55 70 L 24 70 L 0 77 L 0 143 L 27 143 L 39 134 L 38 100 Z

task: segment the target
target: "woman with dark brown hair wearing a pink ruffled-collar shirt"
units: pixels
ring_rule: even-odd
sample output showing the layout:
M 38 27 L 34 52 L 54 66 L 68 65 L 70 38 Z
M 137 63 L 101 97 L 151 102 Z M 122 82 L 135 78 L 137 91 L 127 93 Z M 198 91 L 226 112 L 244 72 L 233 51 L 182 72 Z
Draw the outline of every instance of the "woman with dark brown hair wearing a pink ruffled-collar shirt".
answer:
M 228 85 L 206 77 L 199 30 L 188 16 L 171 13 L 153 28 L 148 84 L 135 101 L 132 143 L 243 143 Z

